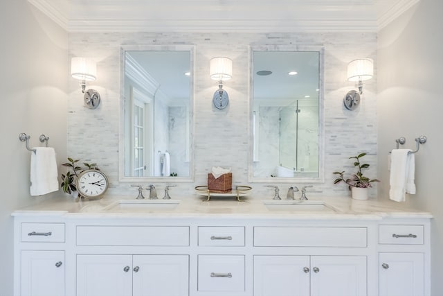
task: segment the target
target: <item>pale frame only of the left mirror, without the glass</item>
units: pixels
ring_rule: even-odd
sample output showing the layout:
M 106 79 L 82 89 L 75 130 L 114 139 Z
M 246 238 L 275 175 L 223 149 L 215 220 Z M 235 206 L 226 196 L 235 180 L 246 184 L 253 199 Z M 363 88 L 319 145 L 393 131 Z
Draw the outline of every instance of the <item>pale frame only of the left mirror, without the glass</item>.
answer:
M 189 129 L 189 177 L 130 177 L 125 176 L 125 151 L 123 131 L 125 130 L 125 53 L 127 51 L 189 51 L 190 52 L 190 129 Z M 194 182 L 194 110 L 195 110 L 195 45 L 123 45 L 120 46 L 120 116 L 118 132 L 118 181 L 119 182 Z

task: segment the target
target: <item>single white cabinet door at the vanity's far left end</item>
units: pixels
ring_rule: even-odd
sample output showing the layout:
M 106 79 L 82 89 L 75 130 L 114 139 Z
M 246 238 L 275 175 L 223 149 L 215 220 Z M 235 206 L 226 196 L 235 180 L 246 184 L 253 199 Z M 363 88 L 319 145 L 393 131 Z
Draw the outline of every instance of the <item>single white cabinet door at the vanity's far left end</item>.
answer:
M 64 251 L 21 251 L 21 296 L 64 295 Z

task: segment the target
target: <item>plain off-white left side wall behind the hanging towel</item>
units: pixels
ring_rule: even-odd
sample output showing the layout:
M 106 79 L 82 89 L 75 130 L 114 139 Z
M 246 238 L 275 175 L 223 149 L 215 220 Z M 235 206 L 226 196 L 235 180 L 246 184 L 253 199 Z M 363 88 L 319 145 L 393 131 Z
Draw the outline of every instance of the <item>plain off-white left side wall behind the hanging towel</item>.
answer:
M 50 137 L 57 162 L 66 157 L 67 34 L 27 1 L 0 1 L 0 296 L 12 295 L 15 209 L 51 198 L 30 197 L 30 151 L 19 133 Z

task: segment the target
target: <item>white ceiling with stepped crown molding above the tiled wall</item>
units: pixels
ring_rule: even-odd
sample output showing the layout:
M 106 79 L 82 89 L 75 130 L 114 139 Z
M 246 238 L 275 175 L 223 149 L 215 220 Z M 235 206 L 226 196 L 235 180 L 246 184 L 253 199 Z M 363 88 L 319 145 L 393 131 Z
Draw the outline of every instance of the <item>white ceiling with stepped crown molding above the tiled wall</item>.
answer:
M 69 32 L 377 32 L 419 0 L 28 0 Z

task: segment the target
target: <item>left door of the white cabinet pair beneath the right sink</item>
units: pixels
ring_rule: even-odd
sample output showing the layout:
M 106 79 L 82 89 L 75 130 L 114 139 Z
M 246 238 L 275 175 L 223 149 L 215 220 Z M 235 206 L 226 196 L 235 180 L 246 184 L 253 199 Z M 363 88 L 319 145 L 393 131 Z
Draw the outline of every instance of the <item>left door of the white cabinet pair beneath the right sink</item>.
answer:
M 309 295 L 309 256 L 254 256 L 254 296 L 276 295 Z

